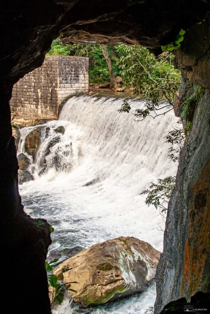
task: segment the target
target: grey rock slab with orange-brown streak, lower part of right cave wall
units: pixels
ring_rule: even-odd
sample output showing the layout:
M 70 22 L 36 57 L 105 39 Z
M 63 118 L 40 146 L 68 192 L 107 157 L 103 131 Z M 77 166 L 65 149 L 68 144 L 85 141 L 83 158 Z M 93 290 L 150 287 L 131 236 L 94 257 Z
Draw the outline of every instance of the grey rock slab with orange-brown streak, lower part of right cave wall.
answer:
M 168 205 L 164 248 L 156 273 L 156 313 L 179 297 L 188 301 L 210 287 L 210 91 L 196 107 L 180 154 Z

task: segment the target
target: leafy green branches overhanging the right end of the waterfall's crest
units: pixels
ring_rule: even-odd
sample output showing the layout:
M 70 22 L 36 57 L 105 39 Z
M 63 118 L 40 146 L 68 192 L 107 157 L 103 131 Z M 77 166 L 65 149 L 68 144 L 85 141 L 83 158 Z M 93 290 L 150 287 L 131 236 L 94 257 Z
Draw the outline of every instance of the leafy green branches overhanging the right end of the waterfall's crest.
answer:
M 124 44 L 117 45 L 116 52 L 119 55 L 116 63 L 121 69 L 123 82 L 127 86 L 133 86 L 134 93 L 146 100 L 145 108 L 137 109 L 134 114 L 136 121 L 172 110 L 181 80 L 179 70 L 173 68 L 173 56 L 164 52 L 156 58 L 145 47 Z M 165 113 L 159 111 L 161 100 L 168 102 Z M 123 104 L 119 112 L 129 112 L 127 105 Z

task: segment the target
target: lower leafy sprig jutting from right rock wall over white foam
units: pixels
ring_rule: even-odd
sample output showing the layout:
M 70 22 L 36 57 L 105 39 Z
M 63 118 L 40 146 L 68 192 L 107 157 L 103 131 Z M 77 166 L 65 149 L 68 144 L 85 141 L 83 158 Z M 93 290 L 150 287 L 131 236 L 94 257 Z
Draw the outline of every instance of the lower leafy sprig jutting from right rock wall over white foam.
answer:
M 145 203 L 148 206 L 154 205 L 156 209 L 159 208 L 161 214 L 166 213 L 166 204 L 171 197 L 175 178 L 175 176 L 168 176 L 164 179 L 157 179 L 157 183 L 150 182 L 149 189 L 140 193 L 140 195 L 147 194 Z

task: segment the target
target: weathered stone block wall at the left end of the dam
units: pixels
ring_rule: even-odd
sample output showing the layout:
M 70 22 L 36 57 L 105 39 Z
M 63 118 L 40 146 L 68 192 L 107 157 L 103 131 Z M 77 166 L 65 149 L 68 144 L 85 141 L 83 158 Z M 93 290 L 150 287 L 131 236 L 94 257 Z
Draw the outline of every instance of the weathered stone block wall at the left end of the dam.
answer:
M 88 58 L 48 56 L 14 85 L 11 113 L 57 119 L 60 101 L 78 92 L 88 92 Z

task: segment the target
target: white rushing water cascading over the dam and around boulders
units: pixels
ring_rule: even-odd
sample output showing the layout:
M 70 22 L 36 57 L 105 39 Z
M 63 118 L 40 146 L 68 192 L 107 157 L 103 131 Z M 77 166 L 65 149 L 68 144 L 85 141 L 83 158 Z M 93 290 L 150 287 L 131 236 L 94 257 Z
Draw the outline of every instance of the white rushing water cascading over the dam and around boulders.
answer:
M 51 253 L 62 255 L 64 248 L 87 248 L 119 236 L 137 237 L 162 251 L 164 219 L 139 193 L 151 181 L 175 175 L 177 164 L 167 159 L 169 146 L 163 136 L 177 118 L 171 111 L 135 122 L 132 113 L 117 112 L 122 101 L 73 96 L 58 121 L 43 125 L 42 143 L 30 166 L 35 180 L 21 185 L 20 194 L 27 213 L 53 225 Z M 135 101 L 132 110 L 143 105 Z M 55 133 L 61 125 L 65 133 Z M 33 128 L 21 129 L 19 152 Z M 45 172 L 38 176 L 43 165 Z M 143 314 L 155 297 L 153 284 L 142 294 L 91 310 L 77 309 L 66 298 L 54 313 Z

